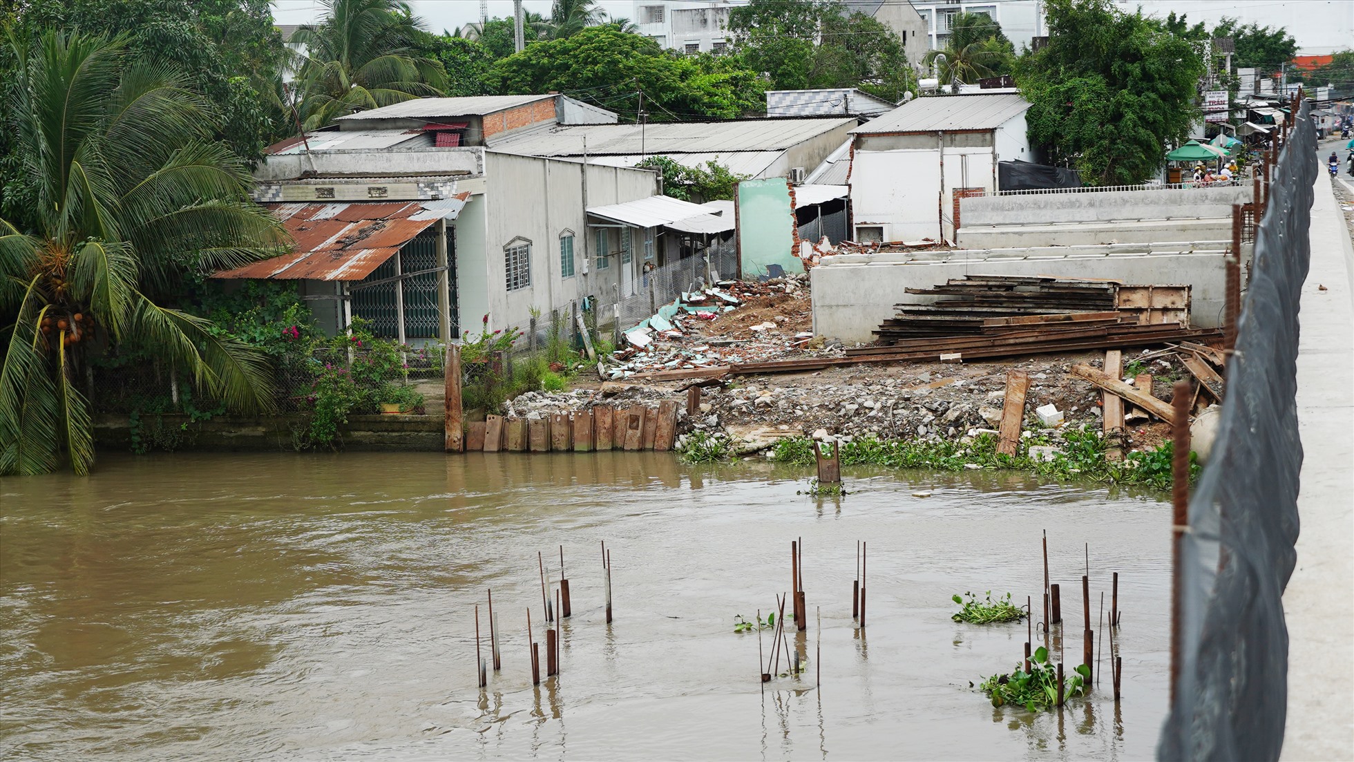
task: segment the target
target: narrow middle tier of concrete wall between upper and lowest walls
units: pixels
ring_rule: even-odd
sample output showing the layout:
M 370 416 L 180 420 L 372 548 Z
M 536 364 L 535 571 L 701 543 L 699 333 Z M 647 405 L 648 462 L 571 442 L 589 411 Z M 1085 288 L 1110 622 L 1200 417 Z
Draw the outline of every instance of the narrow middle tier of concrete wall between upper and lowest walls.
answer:
M 1212 217 L 1205 219 L 1132 219 L 1062 225 L 964 225 L 959 229 L 957 242 L 969 249 L 1009 249 L 1150 244 L 1167 240 L 1225 241 L 1231 236 L 1231 217 Z

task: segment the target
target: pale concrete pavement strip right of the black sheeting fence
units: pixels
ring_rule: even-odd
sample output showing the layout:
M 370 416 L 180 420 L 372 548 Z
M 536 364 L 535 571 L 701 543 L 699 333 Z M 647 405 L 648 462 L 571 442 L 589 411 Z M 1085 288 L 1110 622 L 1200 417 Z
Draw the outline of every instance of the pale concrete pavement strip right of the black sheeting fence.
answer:
M 1281 755 L 1293 761 L 1354 758 L 1354 245 L 1326 172 L 1332 145 L 1320 152 L 1312 265 L 1300 307 L 1301 533 L 1284 593 L 1289 666 Z

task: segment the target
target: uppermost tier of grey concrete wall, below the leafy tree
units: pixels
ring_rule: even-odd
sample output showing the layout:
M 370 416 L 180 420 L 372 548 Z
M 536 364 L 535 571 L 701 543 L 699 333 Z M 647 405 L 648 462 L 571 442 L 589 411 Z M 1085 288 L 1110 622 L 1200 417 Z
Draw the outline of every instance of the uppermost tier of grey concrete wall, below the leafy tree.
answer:
M 1071 194 L 1020 194 L 960 199 L 960 237 L 971 225 L 1055 225 L 1114 219 L 1228 218 L 1251 200 L 1250 185 Z

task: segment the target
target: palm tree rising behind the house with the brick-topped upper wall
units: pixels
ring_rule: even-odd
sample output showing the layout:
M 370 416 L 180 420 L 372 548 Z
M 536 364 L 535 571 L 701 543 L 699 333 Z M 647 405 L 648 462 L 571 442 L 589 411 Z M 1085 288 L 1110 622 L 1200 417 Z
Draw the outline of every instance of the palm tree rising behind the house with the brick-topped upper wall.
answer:
M 420 55 L 422 20 L 395 0 L 326 0 L 318 26 L 303 26 L 291 42 L 306 47 L 297 76 L 301 119 L 307 130 L 336 116 L 414 97 L 441 95 L 447 72 Z

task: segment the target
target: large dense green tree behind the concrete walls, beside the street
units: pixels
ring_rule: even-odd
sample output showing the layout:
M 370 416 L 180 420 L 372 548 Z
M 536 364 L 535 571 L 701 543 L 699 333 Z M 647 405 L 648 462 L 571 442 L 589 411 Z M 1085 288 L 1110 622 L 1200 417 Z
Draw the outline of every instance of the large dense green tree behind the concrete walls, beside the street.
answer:
M 1017 64 L 1029 138 L 1094 185 L 1155 175 L 1198 118 L 1198 45 L 1112 0 L 1048 0 L 1048 45 Z

